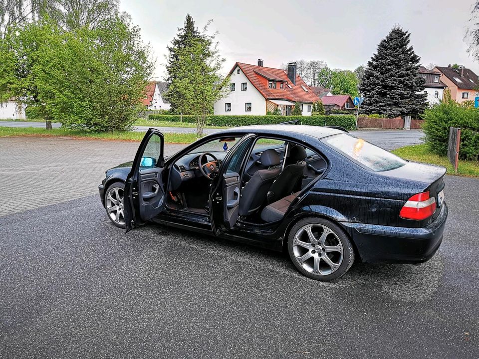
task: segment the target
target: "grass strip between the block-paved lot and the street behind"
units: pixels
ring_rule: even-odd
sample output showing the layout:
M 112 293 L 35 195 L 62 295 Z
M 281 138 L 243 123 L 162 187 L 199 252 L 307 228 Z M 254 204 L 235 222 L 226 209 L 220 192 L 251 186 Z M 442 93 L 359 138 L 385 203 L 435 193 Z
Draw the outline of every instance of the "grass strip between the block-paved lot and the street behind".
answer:
M 14 128 L 0 127 L 0 137 L 8 136 L 61 136 L 61 137 L 78 137 L 100 140 L 121 140 L 121 141 L 141 141 L 145 134 L 143 132 L 133 131 L 114 131 L 114 132 L 85 132 L 76 130 L 45 130 L 42 128 Z M 190 144 L 198 139 L 195 133 L 170 133 L 165 132 L 166 143 Z

